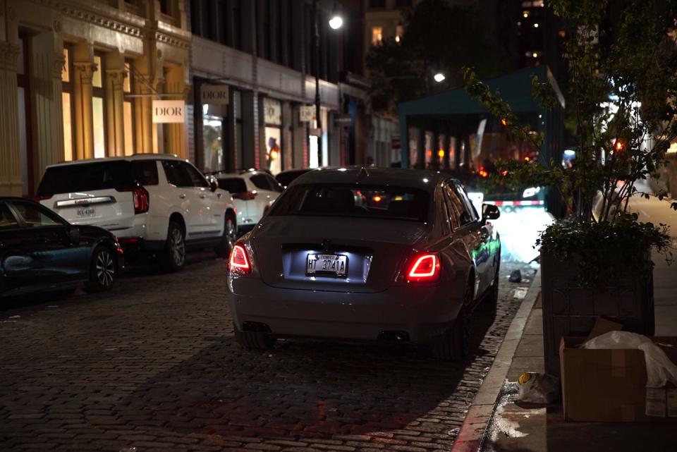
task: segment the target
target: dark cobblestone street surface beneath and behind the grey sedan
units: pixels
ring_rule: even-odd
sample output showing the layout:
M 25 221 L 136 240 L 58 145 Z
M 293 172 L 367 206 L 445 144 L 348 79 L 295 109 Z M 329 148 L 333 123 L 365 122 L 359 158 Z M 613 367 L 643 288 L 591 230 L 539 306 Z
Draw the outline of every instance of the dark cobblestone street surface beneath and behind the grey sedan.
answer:
M 204 258 L 204 259 L 201 259 Z M 1 451 L 448 451 L 520 300 L 465 362 L 414 346 L 235 342 L 223 260 L 130 271 L 104 295 L 0 310 Z

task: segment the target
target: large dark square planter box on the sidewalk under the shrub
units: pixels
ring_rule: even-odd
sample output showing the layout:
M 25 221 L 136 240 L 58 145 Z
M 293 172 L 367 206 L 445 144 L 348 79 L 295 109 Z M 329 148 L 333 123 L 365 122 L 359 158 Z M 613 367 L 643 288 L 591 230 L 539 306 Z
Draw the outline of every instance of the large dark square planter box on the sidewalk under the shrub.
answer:
M 638 259 L 650 259 L 649 253 Z M 651 274 L 623 274 L 620 284 L 604 290 L 580 288 L 575 277 L 577 259 L 563 262 L 541 252 L 541 298 L 543 304 L 543 347 L 545 371 L 560 374 L 559 343 L 562 336 L 587 336 L 597 318 L 623 324 L 623 330 L 654 334 L 654 281 Z

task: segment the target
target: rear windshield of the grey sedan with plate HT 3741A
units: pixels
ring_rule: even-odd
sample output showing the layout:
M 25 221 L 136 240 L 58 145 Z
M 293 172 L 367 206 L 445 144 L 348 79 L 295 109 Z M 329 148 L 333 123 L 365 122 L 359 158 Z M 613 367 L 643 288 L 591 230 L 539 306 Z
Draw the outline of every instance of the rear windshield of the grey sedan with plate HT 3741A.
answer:
M 305 184 L 288 188 L 269 215 L 352 216 L 427 221 L 428 193 L 415 188 Z

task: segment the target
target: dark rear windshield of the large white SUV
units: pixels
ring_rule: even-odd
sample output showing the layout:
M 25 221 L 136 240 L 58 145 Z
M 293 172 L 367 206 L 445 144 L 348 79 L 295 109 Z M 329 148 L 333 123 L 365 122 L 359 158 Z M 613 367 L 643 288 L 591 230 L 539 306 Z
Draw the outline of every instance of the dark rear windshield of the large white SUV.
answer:
M 52 166 L 45 171 L 37 195 L 130 188 L 135 185 L 157 185 L 157 164 L 154 160 L 97 161 Z

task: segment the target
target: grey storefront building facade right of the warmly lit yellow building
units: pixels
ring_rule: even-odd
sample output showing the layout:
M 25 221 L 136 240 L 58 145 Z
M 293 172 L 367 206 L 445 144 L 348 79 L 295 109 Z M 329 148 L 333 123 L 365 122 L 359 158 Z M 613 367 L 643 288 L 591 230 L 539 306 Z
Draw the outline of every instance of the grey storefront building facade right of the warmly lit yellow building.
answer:
M 360 12 L 349 1 L 187 4 L 193 32 L 189 154 L 198 168 L 279 173 L 362 161 L 368 85 L 359 75 L 360 52 L 353 51 Z M 334 12 L 344 18 L 339 30 L 328 25 Z M 319 123 L 312 118 L 316 73 Z M 311 117 L 302 116 L 304 107 Z

